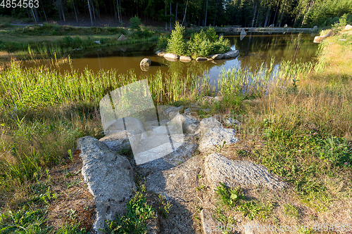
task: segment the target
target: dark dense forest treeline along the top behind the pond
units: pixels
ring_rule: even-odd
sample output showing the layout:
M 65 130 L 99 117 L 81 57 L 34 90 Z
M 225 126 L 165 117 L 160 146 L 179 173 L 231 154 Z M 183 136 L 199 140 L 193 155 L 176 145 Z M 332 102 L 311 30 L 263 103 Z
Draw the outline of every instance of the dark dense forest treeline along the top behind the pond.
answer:
M 25 0 L 34 1 L 34 0 Z M 54 18 L 67 20 L 73 16 L 89 15 L 94 21 L 111 15 L 122 18 L 137 15 L 142 22 L 164 22 L 165 27 L 182 25 L 241 25 L 242 27 L 311 27 L 329 26 L 342 15 L 352 20 L 352 0 L 35 0 L 38 8 L 8 8 L 0 1 L 0 14 L 16 18 L 30 18 L 34 22 Z M 8 1 L 9 2 L 9 1 Z M 20 0 L 16 0 L 17 4 Z M 4 4 L 4 6 L 2 6 Z M 127 21 L 126 21 L 127 22 Z

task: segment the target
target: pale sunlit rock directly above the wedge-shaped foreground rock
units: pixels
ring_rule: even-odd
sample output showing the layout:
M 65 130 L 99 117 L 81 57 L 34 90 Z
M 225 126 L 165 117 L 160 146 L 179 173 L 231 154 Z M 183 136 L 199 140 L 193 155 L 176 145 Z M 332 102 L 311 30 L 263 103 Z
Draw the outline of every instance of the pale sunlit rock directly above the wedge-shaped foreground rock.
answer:
M 222 145 L 230 145 L 239 142 L 234 129 L 210 128 L 199 140 L 199 151 L 210 152 L 218 150 Z

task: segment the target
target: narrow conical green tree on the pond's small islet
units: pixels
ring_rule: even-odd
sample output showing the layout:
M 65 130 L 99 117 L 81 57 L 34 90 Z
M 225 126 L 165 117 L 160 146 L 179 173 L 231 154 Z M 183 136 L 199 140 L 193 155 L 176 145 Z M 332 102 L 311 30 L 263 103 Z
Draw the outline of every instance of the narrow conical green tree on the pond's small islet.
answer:
M 166 51 L 169 53 L 176 53 L 179 56 L 185 53 L 185 43 L 183 39 L 184 27 L 177 21 L 175 23 L 175 30 L 172 30 L 170 39 L 168 39 L 168 47 Z

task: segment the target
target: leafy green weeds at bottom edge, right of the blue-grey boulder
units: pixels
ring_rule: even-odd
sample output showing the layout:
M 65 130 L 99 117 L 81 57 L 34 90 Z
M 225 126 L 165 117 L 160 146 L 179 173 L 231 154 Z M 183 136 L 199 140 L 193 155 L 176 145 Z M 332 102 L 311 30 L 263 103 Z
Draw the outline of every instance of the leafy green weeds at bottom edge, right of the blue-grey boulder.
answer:
M 146 220 L 154 215 L 154 209 L 146 204 L 146 197 L 138 191 L 132 200 L 127 203 L 127 214 L 113 221 L 106 221 L 106 230 L 111 233 L 146 233 Z

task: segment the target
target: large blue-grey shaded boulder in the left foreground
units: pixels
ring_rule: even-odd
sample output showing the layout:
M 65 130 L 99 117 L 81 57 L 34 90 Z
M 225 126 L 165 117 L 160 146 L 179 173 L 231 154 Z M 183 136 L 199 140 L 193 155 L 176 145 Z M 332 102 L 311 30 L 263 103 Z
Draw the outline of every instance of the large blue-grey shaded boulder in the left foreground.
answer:
M 92 136 L 78 139 L 77 147 L 82 150 L 82 175 L 96 204 L 93 230 L 101 233 L 99 228 L 104 228 L 106 219 L 125 213 L 136 189 L 132 167 L 126 157 L 112 152 Z

